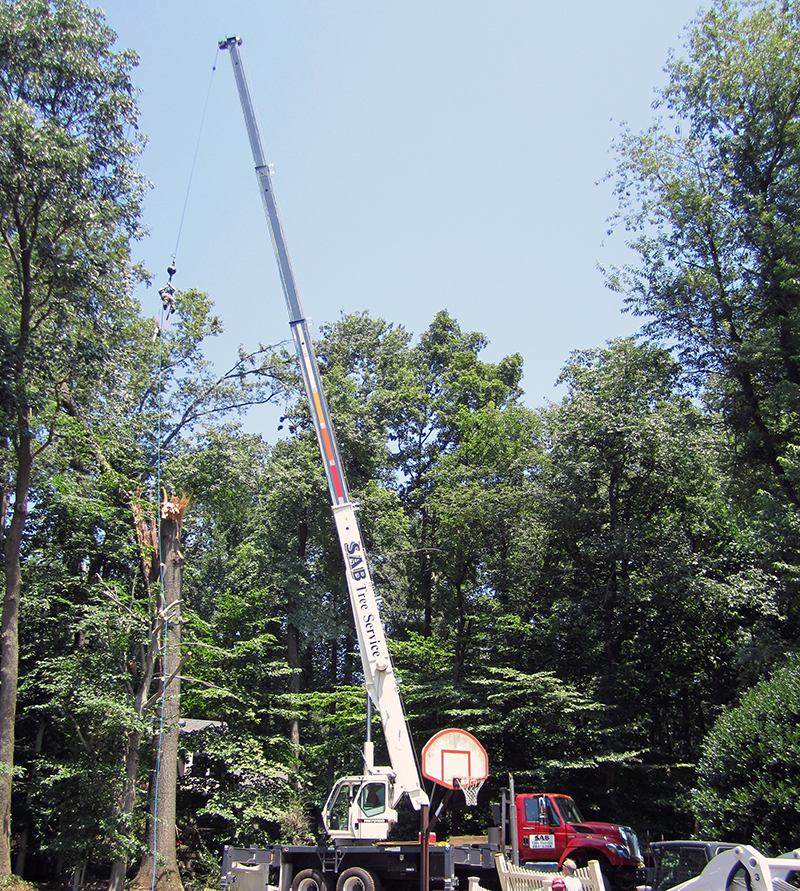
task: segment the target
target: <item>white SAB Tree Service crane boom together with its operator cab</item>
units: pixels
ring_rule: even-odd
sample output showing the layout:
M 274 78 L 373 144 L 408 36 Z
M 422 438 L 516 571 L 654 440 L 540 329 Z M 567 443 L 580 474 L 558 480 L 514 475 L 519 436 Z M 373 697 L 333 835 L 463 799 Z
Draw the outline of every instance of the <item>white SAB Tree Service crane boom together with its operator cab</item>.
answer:
M 386 838 L 389 825 L 397 820 L 394 808 L 400 798 L 404 794 L 408 795 L 414 809 L 419 810 L 429 803 L 428 796 L 421 785 L 414 747 L 400 701 L 392 659 L 386 645 L 361 529 L 356 519 L 355 506 L 350 500 L 339 445 L 322 389 L 319 365 L 314 355 L 308 324 L 289 260 L 272 178 L 239 53 L 241 40 L 237 37 L 228 37 L 219 45 L 220 49 L 227 49 L 230 52 L 255 162 L 258 189 L 264 204 L 286 307 L 289 311 L 289 326 L 328 478 L 333 517 L 342 547 L 347 588 L 364 668 L 364 681 L 367 692 L 380 713 L 383 735 L 392 765 L 391 768 L 375 767 L 372 743 L 366 742 L 364 775 L 343 777 L 337 781 L 323 809 L 323 820 L 326 829 L 334 838 Z M 344 820 L 347 821 L 346 829 L 342 826 Z

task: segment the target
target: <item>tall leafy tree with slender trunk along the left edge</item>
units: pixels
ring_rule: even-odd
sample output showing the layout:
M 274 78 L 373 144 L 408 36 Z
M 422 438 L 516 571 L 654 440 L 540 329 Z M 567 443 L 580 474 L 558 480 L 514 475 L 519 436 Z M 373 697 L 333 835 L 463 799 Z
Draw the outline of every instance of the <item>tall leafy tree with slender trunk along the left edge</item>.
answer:
M 130 80 L 136 57 L 112 52 L 102 12 L 79 0 L 0 7 L 0 326 L 4 530 L 0 639 L 0 876 L 10 863 L 18 684 L 20 546 L 34 462 L 67 401 L 104 361 L 133 310 L 128 246 L 142 181 Z

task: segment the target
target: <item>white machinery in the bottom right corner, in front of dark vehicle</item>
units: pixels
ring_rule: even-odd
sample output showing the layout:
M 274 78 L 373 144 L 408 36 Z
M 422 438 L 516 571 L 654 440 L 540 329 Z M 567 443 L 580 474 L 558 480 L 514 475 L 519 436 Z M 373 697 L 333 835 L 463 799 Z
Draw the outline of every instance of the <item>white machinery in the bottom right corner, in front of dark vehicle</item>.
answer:
M 765 857 L 750 845 L 737 845 L 717 854 L 693 879 L 671 891 L 794 891 L 793 874 L 800 873 L 800 850 Z

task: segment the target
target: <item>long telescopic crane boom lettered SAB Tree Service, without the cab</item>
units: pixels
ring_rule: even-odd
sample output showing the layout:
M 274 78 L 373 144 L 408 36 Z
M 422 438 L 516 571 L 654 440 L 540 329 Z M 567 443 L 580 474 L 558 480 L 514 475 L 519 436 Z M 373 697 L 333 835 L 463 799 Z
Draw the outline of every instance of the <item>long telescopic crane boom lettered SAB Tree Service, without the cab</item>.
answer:
M 353 607 L 353 617 L 358 634 L 358 647 L 361 651 L 361 663 L 364 667 L 364 681 L 367 691 L 380 713 L 383 735 L 386 739 L 389 759 L 395 773 L 394 794 L 391 806 L 394 807 L 402 795 L 406 794 L 414 809 L 419 810 L 420 806 L 429 803 L 428 796 L 420 782 L 414 747 L 411 743 L 408 724 L 406 723 L 403 706 L 400 702 L 400 693 L 397 689 L 397 680 L 392 659 L 389 655 L 389 648 L 386 645 L 386 636 L 375 598 L 375 588 L 372 584 L 367 554 L 361 538 L 361 529 L 356 519 L 354 505 L 350 501 L 342 459 L 339 454 L 339 446 L 331 426 L 328 406 L 322 389 L 319 365 L 314 355 L 308 325 L 303 315 L 300 295 L 297 291 L 294 272 L 289 260 L 289 251 L 286 247 L 286 240 L 278 214 L 278 205 L 275 201 L 269 166 L 267 165 L 266 155 L 261 143 L 261 134 L 258 129 L 253 102 L 250 98 L 250 90 L 239 54 L 240 44 L 241 40 L 239 38 L 229 37 L 221 41 L 219 46 L 220 49 L 229 50 L 231 54 L 233 73 L 236 78 L 239 99 L 242 103 L 247 135 L 250 139 L 250 148 L 253 152 L 258 189 L 264 203 L 264 211 L 269 224 L 270 235 L 272 236 L 272 246 L 275 249 L 275 259 L 278 261 L 283 293 L 286 298 L 287 309 L 289 310 L 289 325 L 303 373 L 303 381 L 311 408 L 311 417 L 317 431 L 317 440 L 325 465 L 325 473 L 328 477 L 328 488 L 330 489 L 333 504 L 333 516 L 336 521 L 339 542 L 342 546 L 347 588 L 350 592 L 350 602 Z M 370 764 L 368 767 L 371 768 L 372 765 Z

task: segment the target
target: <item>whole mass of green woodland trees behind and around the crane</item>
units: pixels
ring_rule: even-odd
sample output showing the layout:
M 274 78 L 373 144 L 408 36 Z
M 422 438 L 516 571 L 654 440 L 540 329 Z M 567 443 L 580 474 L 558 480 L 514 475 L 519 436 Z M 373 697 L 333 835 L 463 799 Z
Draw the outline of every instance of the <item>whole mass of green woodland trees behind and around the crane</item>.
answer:
M 418 338 L 368 313 L 321 331 L 412 735 L 459 726 L 490 757 L 479 807 L 440 832 L 483 832 L 513 772 L 643 838 L 699 818 L 797 842 L 795 15 L 717 0 L 667 65 L 661 117 L 623 132 L 636 262 L 609 275 L 644 336 L 577 350 L 561 402 L 527 408 L 521 358 L 485 361 L 444 311 Z M 294 360 L 216 374 L 207 295 L 179 292 L 156 338 L 132 300 L 135 58 L 112 42 L 78 0 L 0 5 L 0 528 L 20 664 L 18 690 L 2 676 L 0 873 L 12 851 L 42 880 L 111 865 L 116 891 L 148 856 L 163 767 L 161 489 L 189 499 L 171 607 L 183 881 L 209 881 L 224 843 L 320 838 L 333 777 L 360 772 L 366 704 Z M 276 443 L 231 420 L 278 398 Z

